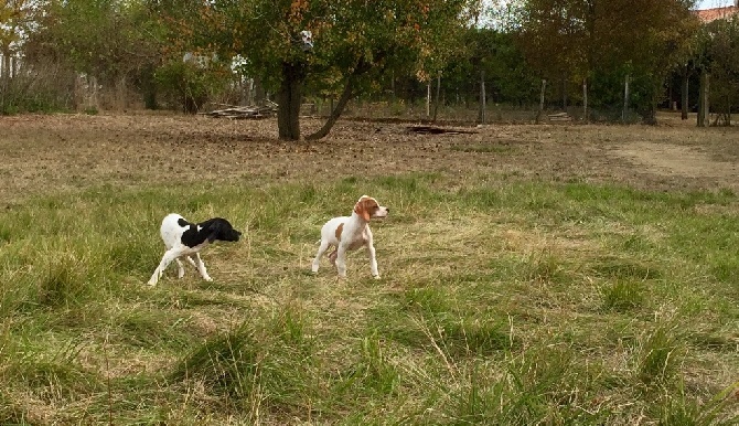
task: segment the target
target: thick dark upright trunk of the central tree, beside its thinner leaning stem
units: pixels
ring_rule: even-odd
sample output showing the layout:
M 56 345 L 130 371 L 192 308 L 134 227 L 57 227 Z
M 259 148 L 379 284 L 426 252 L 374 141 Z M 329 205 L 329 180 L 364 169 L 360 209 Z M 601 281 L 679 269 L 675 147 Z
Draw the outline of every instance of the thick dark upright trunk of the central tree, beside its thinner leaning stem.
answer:
M 300 65 L 282 63 L 282 81 L 277 93 L 277 129 L 282 140 L 300 139 L 300 89 L 303 78 Z

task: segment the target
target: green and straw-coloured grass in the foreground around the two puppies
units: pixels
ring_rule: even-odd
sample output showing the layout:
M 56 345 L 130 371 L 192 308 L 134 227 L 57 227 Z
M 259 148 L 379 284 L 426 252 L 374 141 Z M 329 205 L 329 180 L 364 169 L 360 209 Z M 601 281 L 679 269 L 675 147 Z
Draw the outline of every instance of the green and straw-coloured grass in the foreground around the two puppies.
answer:
M 383 278 L 310 274 L 362 194 Z M 0 221 L 0 423 L 729 422 L 738 203 L 440 172 L 29 198 Z M 213 283 L 144 285 L 170 212 L 245 232 Z

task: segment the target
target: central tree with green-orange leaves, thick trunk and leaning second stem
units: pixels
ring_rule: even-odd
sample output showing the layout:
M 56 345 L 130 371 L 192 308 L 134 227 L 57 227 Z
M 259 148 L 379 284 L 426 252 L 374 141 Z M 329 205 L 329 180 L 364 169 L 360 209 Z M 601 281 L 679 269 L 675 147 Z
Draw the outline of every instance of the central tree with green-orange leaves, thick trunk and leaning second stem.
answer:
M 479 0 L 214 0 L 201 3 L 196 43 L 219 57 L 239 55 L 244 68 L 277 92 L 281 139 L 300 138 L 307 85 L 340 94 L 321 130 L 325 136 L 346 103 L 384 73 L 428 79 L 454 49 Z M 313 49 L 303 49 L 309 31 Z

